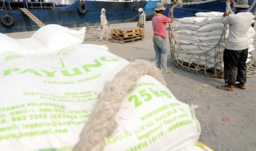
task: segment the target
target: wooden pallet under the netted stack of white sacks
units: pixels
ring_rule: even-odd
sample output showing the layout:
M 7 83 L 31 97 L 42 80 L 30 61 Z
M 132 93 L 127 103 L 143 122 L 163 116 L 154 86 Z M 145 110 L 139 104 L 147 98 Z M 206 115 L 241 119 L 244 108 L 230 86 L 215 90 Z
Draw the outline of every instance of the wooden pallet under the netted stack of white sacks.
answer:
M 190 68 L 191 71 L 196 71 L 199 74 L 207 74 L 207 76 L 209 77 L 215 77 L 215 75 L 217 76 L 217 78 L 224 78 L 224 73 L 220 70 L 220 69 L 215 69 L 215 68 L 206 68 L 202 65 L 197 65 L 196 63 L 188 63 L 188 62 L 182 62 L 182 61 L 178 61 L 178 66 L 180 68 Z

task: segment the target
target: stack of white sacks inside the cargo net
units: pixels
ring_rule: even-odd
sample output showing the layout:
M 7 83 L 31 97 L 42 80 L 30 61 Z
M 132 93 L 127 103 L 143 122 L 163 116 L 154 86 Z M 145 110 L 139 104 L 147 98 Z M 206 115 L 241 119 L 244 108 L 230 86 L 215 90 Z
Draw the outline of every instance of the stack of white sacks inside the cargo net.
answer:
M 182 49 L 178 49 L 178 45 L 176 45 L 176 51 L 179 52 L 177 59 L 208 68 L 223 69 L 223 62 L 220 62 L 222 51 L 225 49 L 225 38 L 224 36 L 221 37 L 224 31 L 223 14 L 220 12 L 200 12 L 195 14 L 196 17 L 178 19 L 176 37 Z M 225 33 L 225 37 L 227 37 L 228 28 Z M 255 31 L 250 27 L 248 31 L 249 52 L 254 50 L 252 45 L 254 36 Z M 219 41 L 220 44 L 218 44 Z M 251 56 L 249 53 L 247 62 L 250 61 Z

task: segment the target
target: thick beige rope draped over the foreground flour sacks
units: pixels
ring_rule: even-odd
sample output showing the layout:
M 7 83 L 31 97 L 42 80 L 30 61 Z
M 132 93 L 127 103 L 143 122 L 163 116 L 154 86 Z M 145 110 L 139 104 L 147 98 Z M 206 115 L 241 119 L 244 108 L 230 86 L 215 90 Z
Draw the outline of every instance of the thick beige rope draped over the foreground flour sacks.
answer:
M 132 71 L 132 72 L 131 72 Z M 137 84 L 141 75 L 151 75 L 165 85 L 165 80 L 155 63 L 135 60 L 129 63 L 116 77 L 105 84 L 99 96 L 99 103 L 94 108 L 83 130 L 75 151 L 104 150 L 105 138 L 117 129 L 115 116 L 128 91 Z

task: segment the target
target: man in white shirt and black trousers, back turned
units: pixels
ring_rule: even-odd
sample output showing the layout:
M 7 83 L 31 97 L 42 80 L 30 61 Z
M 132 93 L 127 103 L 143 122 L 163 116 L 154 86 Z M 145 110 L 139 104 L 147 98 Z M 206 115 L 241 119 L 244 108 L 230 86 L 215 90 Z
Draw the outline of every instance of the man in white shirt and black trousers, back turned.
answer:
M 223 24 L 229 25 L 227 43 L 223 54 L 224 79 L 227 85 L 217 86 L 218 89 L 233 91 L 233 87 L 246 89 L 246 60 L 248 57 L 247 32 L 253 14 L 248 12 L 248 0 L 231 1 L 235 8 L 235 14 L 224 13 Z M 239 82 L 236 84 L 236 82 Z

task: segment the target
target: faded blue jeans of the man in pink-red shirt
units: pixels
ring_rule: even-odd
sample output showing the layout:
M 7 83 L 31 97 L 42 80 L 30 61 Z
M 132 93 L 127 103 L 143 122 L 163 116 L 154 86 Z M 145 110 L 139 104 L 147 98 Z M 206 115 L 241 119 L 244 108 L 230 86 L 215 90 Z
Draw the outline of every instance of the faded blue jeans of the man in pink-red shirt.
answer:
M 160 69 L 167 69 L 167 50 L 165 38 L 159 35 L 154 35 L 153 42 L 156 53 L 156 67 Z

